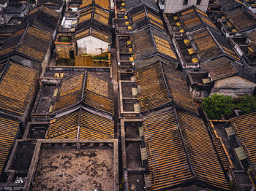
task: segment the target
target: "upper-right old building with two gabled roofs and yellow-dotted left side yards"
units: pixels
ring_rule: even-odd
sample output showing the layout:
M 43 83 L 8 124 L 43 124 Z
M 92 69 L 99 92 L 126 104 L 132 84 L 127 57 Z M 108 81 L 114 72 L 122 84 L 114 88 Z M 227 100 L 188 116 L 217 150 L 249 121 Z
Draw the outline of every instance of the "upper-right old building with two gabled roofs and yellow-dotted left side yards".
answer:
M 200 68 L 203 63 L 226 56 L 241 63 L 240 58 L 206 13 L 189 7 L 165 14 L 173 44 L 183 68 Z

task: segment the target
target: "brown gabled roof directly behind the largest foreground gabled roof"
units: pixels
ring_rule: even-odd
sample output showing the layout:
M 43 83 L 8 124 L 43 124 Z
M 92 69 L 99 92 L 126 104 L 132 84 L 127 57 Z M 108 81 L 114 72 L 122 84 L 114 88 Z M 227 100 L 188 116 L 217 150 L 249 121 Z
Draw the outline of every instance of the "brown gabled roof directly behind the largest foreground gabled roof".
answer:
M 192 95 L 181 71 L 162 62 L 136 70 L 141 112 L 173 105 L 197 114 Z

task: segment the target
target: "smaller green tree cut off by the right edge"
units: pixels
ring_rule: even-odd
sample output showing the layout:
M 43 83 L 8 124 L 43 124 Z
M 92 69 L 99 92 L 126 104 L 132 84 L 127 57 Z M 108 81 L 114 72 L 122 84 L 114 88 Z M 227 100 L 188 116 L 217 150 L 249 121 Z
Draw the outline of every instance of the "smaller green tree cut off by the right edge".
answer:
M 256 110 L 256 96 L 244 95 L 241 101 L 236 104 L 236 108 L 240 109 L 243 113 L 249 113 Z

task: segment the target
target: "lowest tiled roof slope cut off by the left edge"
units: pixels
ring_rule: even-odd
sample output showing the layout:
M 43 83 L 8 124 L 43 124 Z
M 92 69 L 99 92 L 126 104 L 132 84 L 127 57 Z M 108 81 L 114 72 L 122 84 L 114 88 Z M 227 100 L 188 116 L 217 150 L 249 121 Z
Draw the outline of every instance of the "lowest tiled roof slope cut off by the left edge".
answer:
M 4 172 L 4 165 L 10 155 L 18 128 L 19 122 L 17 120 L 0 117 L 0 175 Z

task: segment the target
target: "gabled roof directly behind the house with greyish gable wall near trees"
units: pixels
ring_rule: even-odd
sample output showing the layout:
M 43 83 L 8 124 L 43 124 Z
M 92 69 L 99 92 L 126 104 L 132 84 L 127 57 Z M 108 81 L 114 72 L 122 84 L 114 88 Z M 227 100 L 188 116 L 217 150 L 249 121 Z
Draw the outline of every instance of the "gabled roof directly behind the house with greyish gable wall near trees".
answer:
M 211 28 L 200 28 L 197 31 L 193 31 L 189 36 L 192 38 L 192 44 L 195 45 L 195 52 L 201 62 L 218 58 L 222 55 L 227 55 L 233 60 L 240 61 L 225 36 Z

